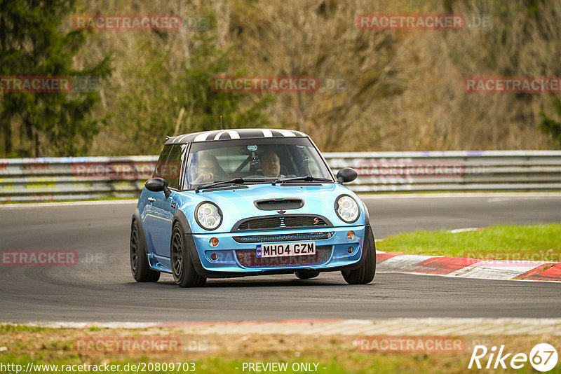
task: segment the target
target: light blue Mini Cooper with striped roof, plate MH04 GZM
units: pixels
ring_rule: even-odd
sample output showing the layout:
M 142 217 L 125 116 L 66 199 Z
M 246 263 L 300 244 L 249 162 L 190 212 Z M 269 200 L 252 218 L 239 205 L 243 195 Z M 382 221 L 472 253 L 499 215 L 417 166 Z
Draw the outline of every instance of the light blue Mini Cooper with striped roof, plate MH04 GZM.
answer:
M 330 167 L 306 134 L 217 130 L 168 137 L 130 230 L 137 282 L 160 272 L 182 287 L 207 278 L 341 271 L 374 279 L 368 211 L 342 185 L 354 169 Z

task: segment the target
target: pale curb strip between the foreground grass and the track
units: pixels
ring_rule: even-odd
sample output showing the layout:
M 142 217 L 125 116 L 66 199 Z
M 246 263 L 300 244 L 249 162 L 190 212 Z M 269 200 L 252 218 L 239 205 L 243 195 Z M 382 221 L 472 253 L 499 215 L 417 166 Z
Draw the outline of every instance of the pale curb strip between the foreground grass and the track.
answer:
M 561 335 L 561 318 L 299 319 L 237 322 L 43 322 L 51 328 L 173 328 L 185 334 Z M 146 332 L 151 333 L 150 331 Z

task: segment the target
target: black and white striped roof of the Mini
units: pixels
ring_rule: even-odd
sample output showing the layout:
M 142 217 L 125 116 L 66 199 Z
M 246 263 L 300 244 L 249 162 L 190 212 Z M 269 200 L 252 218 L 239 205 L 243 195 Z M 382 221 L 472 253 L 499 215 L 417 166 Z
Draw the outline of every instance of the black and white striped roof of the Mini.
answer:
M 198 141 L 215 141 L 230 139 L 261 139 L 274 137 L 308 137 L 304 132 L 277 129 L 236 129 L 194 132 L 192 134 L 170 137 L 165 144 L 195 143 Z

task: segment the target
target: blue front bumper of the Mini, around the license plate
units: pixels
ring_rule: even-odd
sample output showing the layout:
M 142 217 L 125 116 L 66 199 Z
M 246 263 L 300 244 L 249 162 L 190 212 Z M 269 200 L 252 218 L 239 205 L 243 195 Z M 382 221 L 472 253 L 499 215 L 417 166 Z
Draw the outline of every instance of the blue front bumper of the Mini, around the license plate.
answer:
M 355 233 L 353 240 L 347 233 Z M 197 272 L 203 277 L 245 277 L 287 274 L 299 270 L 334 271 L 358 268 L 364 258 L 364 239 L 370 226 L 317 228 L 310 230 L 268 230 L 240 233 L 187 234 L 185 242 Z M 216 237 L 219 244 L 210 246 Z M 294 238 L 294 240 L 291 240 Z M 298 258 L 256 258 L 262 242 L 316 242 L 316 256 Z M 349 248 L 352 248 L 349 253 Z M 212 260 L 215 254 L 217 258 Z

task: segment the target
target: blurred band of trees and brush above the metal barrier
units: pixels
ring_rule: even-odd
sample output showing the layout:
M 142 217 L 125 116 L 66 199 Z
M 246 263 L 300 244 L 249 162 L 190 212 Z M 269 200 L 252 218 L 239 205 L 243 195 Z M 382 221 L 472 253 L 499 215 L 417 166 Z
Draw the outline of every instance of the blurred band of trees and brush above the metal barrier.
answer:
M 0 92 L 0 157 L 157 154 L 165 135 L 217 129 L 220 115 L 225 128 L 302 130 L 323 151 L 544 149 L 552 136 L 561 144 L 561 117 L 539 112 L 548 94 L 462 90 L 468 76 L 560 76 L 559 1 L 290 4 L 0 0 L 1 76 L 102 83 L 99 92 Z M 68 31 L 76 14 L 164 13 L 184 27 Z M 356 27 L 360 13 L 490 15 L 493 25 L 375 31 Z M 243 75 L 318 76 L 344 87 L 212 91 L 212 77 Z

